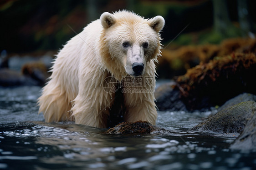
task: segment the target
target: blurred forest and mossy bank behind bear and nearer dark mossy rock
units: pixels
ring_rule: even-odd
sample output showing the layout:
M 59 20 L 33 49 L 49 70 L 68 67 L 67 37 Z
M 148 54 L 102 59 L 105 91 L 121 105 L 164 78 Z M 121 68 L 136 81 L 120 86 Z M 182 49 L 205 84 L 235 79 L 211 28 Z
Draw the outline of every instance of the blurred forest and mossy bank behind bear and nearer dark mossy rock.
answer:
M 1 0 L 0 86 L 44 85 L 57 51 L 105 11 L 164 17 L 160 79 L 217 56 L 256 53 L 255 7 L 256 0 Z

